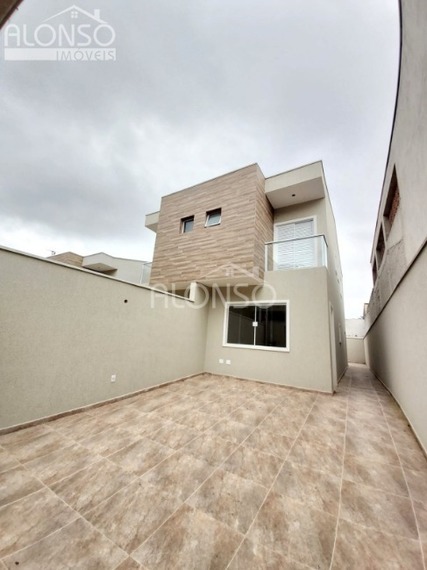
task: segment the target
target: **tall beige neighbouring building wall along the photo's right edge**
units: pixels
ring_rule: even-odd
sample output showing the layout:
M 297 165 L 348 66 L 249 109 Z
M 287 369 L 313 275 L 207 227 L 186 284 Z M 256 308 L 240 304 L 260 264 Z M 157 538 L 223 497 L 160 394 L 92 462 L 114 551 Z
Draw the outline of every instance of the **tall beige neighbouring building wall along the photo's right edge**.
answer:
M 400 76 L 372 249 L 368 364 L 427 449 L 427 3 L 402 0 Z

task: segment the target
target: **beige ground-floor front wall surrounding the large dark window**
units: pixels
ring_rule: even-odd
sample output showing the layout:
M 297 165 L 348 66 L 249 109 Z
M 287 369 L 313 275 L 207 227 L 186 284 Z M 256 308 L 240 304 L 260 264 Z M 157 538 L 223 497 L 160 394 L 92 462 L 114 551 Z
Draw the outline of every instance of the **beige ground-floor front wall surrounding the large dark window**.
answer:
M 326 268 L 267 272 L 265 280 L 256 300 L 289 300 L 289 352 L 223 346 L 225 311 L 217 303 L 209 310 L 205 370 L 331 392 Z

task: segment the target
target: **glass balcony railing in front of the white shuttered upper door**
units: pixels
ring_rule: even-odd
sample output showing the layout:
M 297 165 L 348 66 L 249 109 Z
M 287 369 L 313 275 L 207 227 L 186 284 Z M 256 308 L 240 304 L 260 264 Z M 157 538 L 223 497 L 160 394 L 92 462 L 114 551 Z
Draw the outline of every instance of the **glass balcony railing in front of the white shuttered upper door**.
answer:
M 266 271 L 327 266 L 328 245 L 324 235 L 271 241 L 265 244 Z

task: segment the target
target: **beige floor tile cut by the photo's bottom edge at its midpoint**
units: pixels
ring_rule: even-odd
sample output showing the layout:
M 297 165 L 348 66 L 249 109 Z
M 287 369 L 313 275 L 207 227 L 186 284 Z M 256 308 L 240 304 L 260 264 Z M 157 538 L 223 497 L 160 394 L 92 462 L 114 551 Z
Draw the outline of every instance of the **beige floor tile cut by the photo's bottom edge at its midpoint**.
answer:
M 156 570 L 222 570 L 242 538 L 225 524 L 183 505 L 132 556 Z

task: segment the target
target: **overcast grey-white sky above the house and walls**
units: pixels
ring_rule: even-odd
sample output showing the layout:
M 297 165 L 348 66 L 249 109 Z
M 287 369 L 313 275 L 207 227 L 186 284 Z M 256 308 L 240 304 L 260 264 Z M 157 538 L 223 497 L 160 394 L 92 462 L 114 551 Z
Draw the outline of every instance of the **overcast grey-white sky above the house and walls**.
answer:
M 71 4 L 24 0 L 11 23 L 31 37 Z M 0 245 L 150 260 L 144 218 L 162 195 L 253 162 L 272 176 L 322 159 L 346 316 L 360 316 L 396 95 L 397 0 L 77 5 L 114 29 L 115 62 L 4 61 L 1 33 Z

